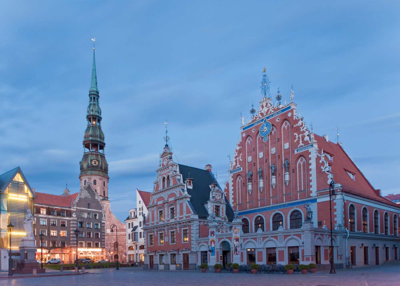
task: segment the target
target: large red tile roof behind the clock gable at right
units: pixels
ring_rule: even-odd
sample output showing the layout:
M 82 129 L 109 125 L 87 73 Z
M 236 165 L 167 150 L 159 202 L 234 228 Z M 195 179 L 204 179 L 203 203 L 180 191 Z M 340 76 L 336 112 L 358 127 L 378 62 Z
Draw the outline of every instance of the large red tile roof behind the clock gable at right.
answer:
M 333 155 L 333 161 L 329 161 L 328 158 L 325 159 L 331 165 L 332 173 L 334 175 L 333 180 L 335 183 L 339 183 L 343 186 L 343 191 L 346 193 L 352 193 L 360 197 L 366 197 L 368 199 L 373 199 L 375 201 L 380 201 L 382 203 L 387 203 L 398 207 L 398 204 L 386 199 L 379 195 L 379 190 L 374 189 L 371 183 L 366 179 L 364 174 L 358 169 L 354 161 L 347 155 L 343 147 L 338 143 L 333 143 L 331 141 L 326 142 L 324 137 L 314 134 L 314 138 L 318 142 L 318 154 L 321 154 L 321 148 L 324 149 L 324 153 L 329 153 Z M 317 169 L 320 168 L 322 164 L 319 163 L 319 157 L 317 158 Z M 355 180 L 353 180 L 347 172 L 355 175 Z M 325 176 L 325 174 L 323 174 Z M 317 189 L 328 188 L 328 179 L 326 181 L 318 180 Z M 326 185 L 324 185 L 324 183 Z

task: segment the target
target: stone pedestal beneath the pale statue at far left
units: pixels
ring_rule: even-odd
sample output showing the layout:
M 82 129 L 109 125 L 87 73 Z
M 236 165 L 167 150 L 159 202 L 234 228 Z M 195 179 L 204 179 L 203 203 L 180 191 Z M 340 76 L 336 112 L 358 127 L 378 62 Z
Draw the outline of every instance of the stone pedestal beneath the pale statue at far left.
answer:
M 17 263 L 13 273 L 29 274 L 33 273 L 34 269 L 36 269 L 36 273 L 46 272 L 46 268 L 40 268 L 40 264 L 36 260 L 37 249 L 34 238 L 22 238 L 20 246 L 21 260 Z

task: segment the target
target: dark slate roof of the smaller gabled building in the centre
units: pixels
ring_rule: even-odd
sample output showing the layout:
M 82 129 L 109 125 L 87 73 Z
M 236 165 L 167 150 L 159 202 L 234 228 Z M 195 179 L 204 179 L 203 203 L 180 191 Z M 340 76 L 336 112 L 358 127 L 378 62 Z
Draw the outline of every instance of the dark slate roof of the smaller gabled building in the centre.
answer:
M 199 218 L 206 218 L 208 216 L 208 211 L 204 207 L 204 204 L 207 203 L 210 198 L 210 184 L 217 183 L 214 175 L 210 171 L 206 171 L 203 169 L 198 169 L 195 167 L 189 167 L 186 165 L 179 164 L 179 172 L 182 174 L 183 180 L 188 178 L 193 178 L 193 188 L 188 188 L 188 194 L 191 195 L 190 203 L 192 205 L 192 209 L 199 216 Z M 190 172 L 190 175 L 189 175 Z M 218 188 L 223 192 L 223 189 L 218 184 Z M 226 199 L 226 216 L 228 220 L 232 220 L 233 209 L 230 206 L 228 199 Z

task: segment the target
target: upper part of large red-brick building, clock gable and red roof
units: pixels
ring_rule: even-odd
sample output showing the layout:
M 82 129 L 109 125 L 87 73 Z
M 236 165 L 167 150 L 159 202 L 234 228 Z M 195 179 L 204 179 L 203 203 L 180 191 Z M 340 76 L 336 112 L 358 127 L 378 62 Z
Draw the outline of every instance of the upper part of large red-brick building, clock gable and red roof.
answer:
M 291 91 L 291 99 L 293 95 Z M 242 117 L 224 189 L 231 205 L 236 203 L 241 211 L 314 197 L 317 191 L 328 188 L 331 179 L 344 192 L 390 204 L 341 143 L 327 138 L 308 129 L 296 103 L 274 105 L 264 96 L 258 112 L 254 111 L 246 124 Z

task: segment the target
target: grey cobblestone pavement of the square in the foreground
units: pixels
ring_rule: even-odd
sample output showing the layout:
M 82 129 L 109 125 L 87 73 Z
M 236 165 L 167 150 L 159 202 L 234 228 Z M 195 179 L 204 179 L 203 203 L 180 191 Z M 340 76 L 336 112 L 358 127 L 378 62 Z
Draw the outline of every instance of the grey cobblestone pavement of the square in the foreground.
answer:
M 271 285 L 271 286 L 399 286 L 400 265 L 338 270 L 337 274 L 232 274 L 141 270 L 139 268 L 92 269 L 80 276 L 16 278 L 0 280 L 3 286 L 133 286 L 133 285 Z

